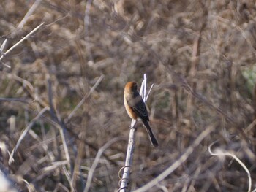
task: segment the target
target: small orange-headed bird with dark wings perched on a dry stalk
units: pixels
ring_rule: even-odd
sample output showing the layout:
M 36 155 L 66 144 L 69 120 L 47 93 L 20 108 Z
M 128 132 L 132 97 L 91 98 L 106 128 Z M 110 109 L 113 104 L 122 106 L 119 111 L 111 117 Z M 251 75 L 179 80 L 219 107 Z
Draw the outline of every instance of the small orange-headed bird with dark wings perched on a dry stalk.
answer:
M 124 107 L 132 120 L 142 120 L 144 126 L 146 127 L 146 131 L 148 132 L 151 144 L 154 145 L 154 147 L 157 147 L 157 139 L 154 137 L 153 131 L 148 123 L 149 118 L 146 105 L 137 89 L 137 82 L 127 82 L 124 87 Z

